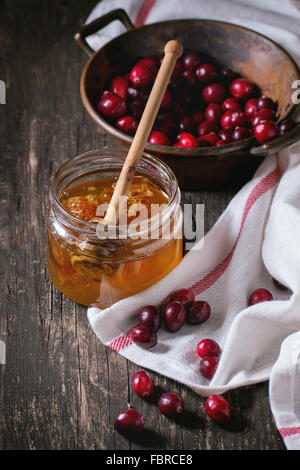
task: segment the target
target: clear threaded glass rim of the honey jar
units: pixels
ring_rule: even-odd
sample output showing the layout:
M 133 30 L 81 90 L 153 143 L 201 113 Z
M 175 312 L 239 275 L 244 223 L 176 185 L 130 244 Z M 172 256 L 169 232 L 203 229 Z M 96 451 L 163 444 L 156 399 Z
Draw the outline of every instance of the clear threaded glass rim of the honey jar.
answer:
M 79 219 L 78 217 L 72 215 L 70 212 L 68 212 L 60 203 L 59 201 L 59 195 L 63 191 L 63 188 L 60 188 L 58 183 L 61 182 L 61 179 L 63 179 L 64 175 L 66 174 L 67 176 L 72 175 L 72 167 L 76 166 L 76 164 L 79 163 L 85 163 L 86 161 L 88 162 L 89 159 L 95 157 L 100 157 L 100 167 L 101 167 L 101 162 L 105 159 L 113 159 L 115 162 L 119 162 L 120 164 L 120 170 L 123 166 L 122 161 L 125 160 L 126 155 L 128 153 L 128 150 L 125 148 L 108 148 L 108 147 L 103 147 L 95 150 L 89 150 L 88 152 L 84 152 L 82 154 L 79 154 L 73 158 L 70 158 L 67 160 L 65 163 L 63 163 L 60 168 L 53 174 L 50 182 L 50 203 L 52 206 L 55 208 L 55 213 L 56 215 L 61 216 L 64 220 L 63 223 L 68 225 L 69 228 L 75 229 L 77 231 L 80 231 L 81 233 L 89 234 L 90 236 L 96 235 L 96 227 L 97 223 L 96 222 L 90 222 L 90 221 L 85 221 L 82 219 Z M 145 167 L 143 165 L 149 165 L 150 167 L 153 167 L 152 171 L 154 174 L 158 175 L 157 170 L 161 170 L 161 173 L 163 173 L 167 179 L 168 183 L 170 184 L 171 188 L 171 194 L 169 195 L 168 202 L 165 204 L 165 207 L 160 211 L 161 217 L 164 218 L 167 216 L 167 214 L 170 213 L 170 210 L 174 207 L 174 204 L 180 203 L 180 190 L 178 187 L 178 182 L 176 179 L 176 176 L 174 175 L 173 171 L 171 168 L 166 165 L 162 160 L 160 160 L 157 157 L 153 157 L 150 154 L 143 153 L 142 157 L 140 159 L 139 165 L 137 167 L 137 171 L 140 173 L 142 170 L 145 170 Z M 99 167 L 99 169 L 100 169 Z M 90 173 L 91 175 L 93 174 L 93 171 L 88 168 L 88 166 L 85 168 L 81 173 L 81 176 L 84 174 Z M 72 180 L 71 180 L 72 181 Z M 66 187 L 66 185 L 65 185 Z M 146 221 L 151 223 L 153 219 L 157 217 L 152 216 L 146 219 Z M 118 230 L 122 231 L 122 229 L 126 229 L 126 226 L 122 225 L 109 225 L 107 226 L 108 230 Z

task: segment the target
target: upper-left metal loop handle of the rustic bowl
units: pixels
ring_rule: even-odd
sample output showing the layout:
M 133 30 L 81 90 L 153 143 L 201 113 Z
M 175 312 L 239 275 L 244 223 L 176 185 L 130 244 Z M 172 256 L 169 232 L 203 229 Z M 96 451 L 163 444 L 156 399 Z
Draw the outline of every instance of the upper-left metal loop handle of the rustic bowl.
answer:
M 95 51 L 93 51 L 93 49 L 88 45 L 88 43 L 86 42 L 86 38 L 115 20 L 121 21 L 127 31 L 134 28 L 134 25 L 132 24 L 132 21 L 127 15 L 126 11 L 122 8 L 118 8 L 117 10 L 112 10 L 109 13 L 106 13 L 106 15 L 103 15 L 100 18 L 97 18 L 96 20 L 92 21 L 91 23 L 83 26 L 81 30 L 74 35 L 74 39 L 77 44 L 84 50 L 84 52 L 86 52 L 87 55 L 91 57 Z

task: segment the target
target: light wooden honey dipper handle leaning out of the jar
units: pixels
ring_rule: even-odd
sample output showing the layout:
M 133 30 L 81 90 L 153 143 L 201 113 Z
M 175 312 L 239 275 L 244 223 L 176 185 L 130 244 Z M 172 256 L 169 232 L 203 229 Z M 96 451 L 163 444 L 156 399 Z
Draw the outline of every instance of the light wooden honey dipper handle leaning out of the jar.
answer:
M 119 197 L 126 196 L 129 191 L 130 183 L 144 151 L 176 61 L 181 56 L 182 52 L 182 45 L 178 41 L 169 41 L 165 45 L 165 56 L 129 148 L 126 160 L 109 203 L 106 216 L 102 220 L 102 223 L 105 223 L 106 225 L 115 221 L 115 214 L 117 214 L 119 207 Z

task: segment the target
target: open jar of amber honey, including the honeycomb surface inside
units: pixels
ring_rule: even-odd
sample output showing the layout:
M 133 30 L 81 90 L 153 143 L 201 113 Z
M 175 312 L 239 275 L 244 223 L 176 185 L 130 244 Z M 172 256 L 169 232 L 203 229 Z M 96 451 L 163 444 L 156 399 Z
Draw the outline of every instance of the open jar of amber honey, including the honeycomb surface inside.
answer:
M 177 180 L 150 155 L 141 158 L 126 197 L 126 223 L 122 217 L 99 235 L 98 221 L 126 154 L 123 149 L 90 151 L 68 160 L 52 178 L 49 273 L 61 292 L 86 306 L 106 308 L 136 294 L 166 276 L 182 258 Z

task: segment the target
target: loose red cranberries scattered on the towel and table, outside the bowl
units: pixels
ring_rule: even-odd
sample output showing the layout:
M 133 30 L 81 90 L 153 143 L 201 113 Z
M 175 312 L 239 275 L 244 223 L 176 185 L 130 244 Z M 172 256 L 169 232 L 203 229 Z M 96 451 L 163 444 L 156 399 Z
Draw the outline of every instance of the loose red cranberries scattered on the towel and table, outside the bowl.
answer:
M 282 286 L 283 287 L 283 286 Z M 266 289 L 256 289 L 249 297 L 248 305 L 272 300 L 272 294 Z M 180 330 L 186 320 L 191 325 L 204 323 L 210 317 L 211 309 L 204 300 L 196 300 L 189 289 L 180 289 L 172 294 L 160 305 L 143 307 L 139 313 L 139 324 L 131 330 L 132 341 L 145 349 L 157 344 L 157 331 L 164 320 L 165 327 L 171 333 Z M 200 357 L 199 370 L 204 377 L 211 379 L 218 367 L 221 348 L 211 338 L 202 339 L 196 347 Z M 154 390 L 154 383 L 150 375 L 139 370 L 132 376 L 132 386 L 135 394 L 140 398 L 149 397 Z M 182 413 L 184 402 L 176 393 L 165 393 L 158 400 L 158 408 L 167 416 L 176 416 Z M 225 424 L 231 419 L 231 408 L 228 401 L 219 395 L 211 395 L 205 401 L 207 415 L 217 423 Z M 144 428 L 144 419 L 135 409 L 119 413 L 114 422 L 117 431 L 130 434 Z

